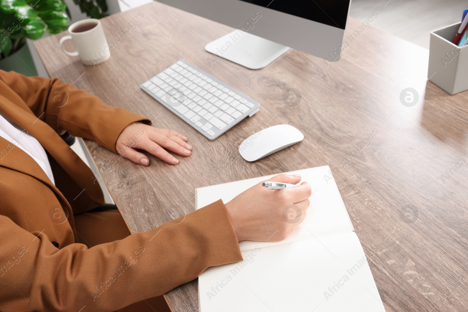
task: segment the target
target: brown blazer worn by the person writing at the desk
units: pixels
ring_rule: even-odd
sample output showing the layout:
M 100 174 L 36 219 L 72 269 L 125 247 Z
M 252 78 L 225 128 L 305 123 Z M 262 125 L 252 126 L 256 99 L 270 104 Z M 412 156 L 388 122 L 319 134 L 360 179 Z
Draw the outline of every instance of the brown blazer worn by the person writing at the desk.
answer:
M 242 260 L 222 201 L 179 224 L 92 248 L 78 243 L 73 214 L 104 200 L 91 170 L 59 134 L 117 152 L 120 132 L 133 122 L 149 123 L 146 118 L 58 79 L 1 70 L 0 113 L 44 146 L 56 183 L 0 137 L 0 311 L 114 311 L 164 294 L 210 266 Z M 53 214 L 60 207 L 69 217 L 57 224 Z

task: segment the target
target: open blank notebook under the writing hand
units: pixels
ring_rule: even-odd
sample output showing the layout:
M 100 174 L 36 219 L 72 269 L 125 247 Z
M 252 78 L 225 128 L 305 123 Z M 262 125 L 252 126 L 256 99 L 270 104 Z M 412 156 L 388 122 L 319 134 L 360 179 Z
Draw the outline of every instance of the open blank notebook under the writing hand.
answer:
M 242 241 L 243 262 L 206 269 L 200 312 L 385 312 L 329 167 L 287 174 L 312 186 L 306 219 L 283 241 Z M 197 189 L 196 208 L 274 175 Z

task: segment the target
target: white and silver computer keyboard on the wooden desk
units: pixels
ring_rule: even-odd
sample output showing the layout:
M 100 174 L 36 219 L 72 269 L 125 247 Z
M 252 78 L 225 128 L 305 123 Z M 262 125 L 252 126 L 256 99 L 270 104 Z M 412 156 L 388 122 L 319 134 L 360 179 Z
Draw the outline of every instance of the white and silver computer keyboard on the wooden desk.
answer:
M 210 140 L 260 108 L 259 102 L 183 59 L 140 87 Z

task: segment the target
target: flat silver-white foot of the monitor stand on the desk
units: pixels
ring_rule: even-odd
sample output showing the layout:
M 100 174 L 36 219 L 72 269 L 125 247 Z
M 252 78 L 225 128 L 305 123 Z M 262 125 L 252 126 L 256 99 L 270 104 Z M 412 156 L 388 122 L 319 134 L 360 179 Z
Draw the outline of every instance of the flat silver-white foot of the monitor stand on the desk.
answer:
M 213 54 L 208 57 L 210 66 L 216 63 L 219 58 L 226 58 L 249 69 L 263 68 L 289 49 L 282 44 L 239 29 L 219 37 L 205 46 L 205 50 Z

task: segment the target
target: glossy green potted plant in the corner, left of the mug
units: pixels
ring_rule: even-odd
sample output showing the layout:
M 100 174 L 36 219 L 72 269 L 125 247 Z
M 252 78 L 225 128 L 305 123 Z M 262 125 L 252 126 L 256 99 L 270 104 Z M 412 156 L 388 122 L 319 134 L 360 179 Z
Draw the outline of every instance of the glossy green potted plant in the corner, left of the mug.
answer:
M 42 37 L 45 31 L 57 34 L 67 29 L 69 15 L 62 0 L 0 0 L 0 68 L 9 65 L 6 67 L 11 69 L 15 61 L 20 65 L 27 63 L 23 58 L 31 59 L 31 56 L 26 38 L 34 40 Z M 13 58 L 17 52 L 19 61 Z

